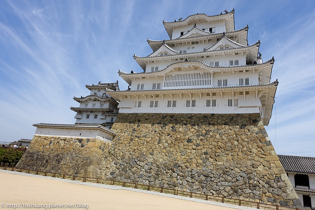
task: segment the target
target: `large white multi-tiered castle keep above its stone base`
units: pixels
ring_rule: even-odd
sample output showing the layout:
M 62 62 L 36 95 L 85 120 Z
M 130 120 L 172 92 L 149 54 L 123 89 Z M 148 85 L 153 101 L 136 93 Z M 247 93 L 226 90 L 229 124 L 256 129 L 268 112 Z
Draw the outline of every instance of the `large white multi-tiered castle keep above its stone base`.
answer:
M 148 39 L 153 53 L 134 55 L 143 71 L 119 70 L 128 90 L 107 89 L 120 113 L 260 113 L 268 125 L 274 59 L 262 61 L 259 40 L 248 44 L 248 26 L 235 30 L 234 9 L 163 25 L 170 39 Z

